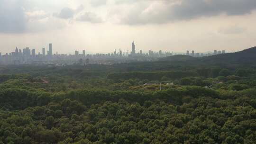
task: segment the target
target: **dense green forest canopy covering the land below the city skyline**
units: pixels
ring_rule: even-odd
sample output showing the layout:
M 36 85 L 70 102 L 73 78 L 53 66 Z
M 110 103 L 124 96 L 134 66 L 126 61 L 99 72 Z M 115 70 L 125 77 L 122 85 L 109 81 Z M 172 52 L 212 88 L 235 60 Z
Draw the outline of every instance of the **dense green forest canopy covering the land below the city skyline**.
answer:
M 255 144 L 256 65 L 238 54 L 0 66 L 0 144 Z

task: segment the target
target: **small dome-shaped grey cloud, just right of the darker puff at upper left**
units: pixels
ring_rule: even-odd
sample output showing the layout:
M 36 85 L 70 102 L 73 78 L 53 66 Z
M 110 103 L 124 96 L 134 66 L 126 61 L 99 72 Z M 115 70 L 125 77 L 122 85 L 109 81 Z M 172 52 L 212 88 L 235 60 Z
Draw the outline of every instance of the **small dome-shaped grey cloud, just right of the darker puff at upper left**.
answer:
M 78 21 L 84 21 L 84 22 L 91 22 L 91 23 L 102 23 L 103 20 L 98 17 L 95 13 L 92 12 L 85 12 L 82 13 L 78 18 L 76 18 Z

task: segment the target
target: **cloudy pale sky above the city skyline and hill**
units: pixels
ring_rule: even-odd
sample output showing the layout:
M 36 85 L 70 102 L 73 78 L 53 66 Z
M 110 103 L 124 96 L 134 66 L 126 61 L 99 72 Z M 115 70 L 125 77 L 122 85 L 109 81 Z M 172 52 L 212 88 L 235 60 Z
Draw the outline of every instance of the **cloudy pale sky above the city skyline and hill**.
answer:
M 197 53 L 256 46 L 256 0 L 0 0 L 0 52 Z

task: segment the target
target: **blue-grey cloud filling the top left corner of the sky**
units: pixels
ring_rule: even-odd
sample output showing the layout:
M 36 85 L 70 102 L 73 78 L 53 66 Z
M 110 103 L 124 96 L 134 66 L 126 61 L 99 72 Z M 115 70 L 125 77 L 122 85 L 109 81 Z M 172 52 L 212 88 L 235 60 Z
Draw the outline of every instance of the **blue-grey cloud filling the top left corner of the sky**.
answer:
M 23 0 L 0 0 L 0 32 L 15 33 L 26 29 Z

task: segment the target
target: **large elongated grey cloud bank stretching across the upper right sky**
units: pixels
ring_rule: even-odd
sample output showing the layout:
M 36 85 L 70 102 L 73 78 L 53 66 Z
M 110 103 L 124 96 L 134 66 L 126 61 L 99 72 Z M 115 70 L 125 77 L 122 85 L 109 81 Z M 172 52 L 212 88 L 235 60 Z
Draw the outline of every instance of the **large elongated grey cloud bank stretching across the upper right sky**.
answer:
M 220 14 L 244 15 L 256 9 L 256 0 L 144 0 L 140 5 L 131 5 L 133 6 L 126 15 L 120 15 L 121 23 L 137 25 L 190 20 Z

